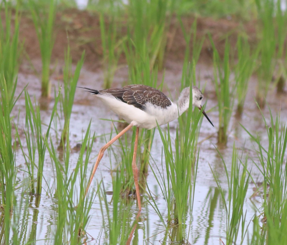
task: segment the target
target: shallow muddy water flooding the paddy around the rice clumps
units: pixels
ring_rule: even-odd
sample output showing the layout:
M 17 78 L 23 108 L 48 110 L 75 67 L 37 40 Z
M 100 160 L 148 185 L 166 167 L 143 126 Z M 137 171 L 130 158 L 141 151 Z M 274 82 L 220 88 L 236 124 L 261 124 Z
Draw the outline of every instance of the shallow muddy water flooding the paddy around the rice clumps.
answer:
M 176 99 L 179 95 L 179 87 L 181 81 L 181 65 L 179 63 L 167 62 L 166 71 L 165 71 L 165 83 L 163 86 L 163 92 L 170 94 L 172 99 Z M 59 69 L 60 70 L 60 69 Z M 56 72 L 57 73 L 57 72 Z M 59 74 L 55 74 L 53 77 L 53 84 L 55 87 L 58 87 L 58 84 L 61 84 L 60 80 L 57 80 Z M 160 74 L 162 76 L 162 74 Z M 193 207 L 193 217 L 192 223 L 189 225 L 190 217 L 187 217 L 187 233 L 189 233 L 188 241 L 191 244 L 219 244 L 219 238 L 222 238 L 224 241 L 224 234 L 226 229 L 226 216 L 224 211 L 224 206 L 221 201 L 220 193 L 218 191 L 216 182 L 210 170 L 216 170 L 221 181 L 223 189 L 227 190 L 227 179 L 224 173 L 224 166 L 222 159 L 220 158 L 218 152 L 215 149 L 217 146 L 217 129 L 218 129 L 218 111 L 216 106 L 217 99 L 214 93 L 214 87 L 212 85 L 213 71 L 209 66 L 204 64 L 199 64 L 197 66 L 197 79 L 200 81 L 200 87 L 205 86 L 204 92 L 204 101 L 207 101 L 206 111 L 213 122 L 215 127 L 212 127 L 210 123 L 203 118 L 203 122 L 200 129 L 199 135 L 199 166 L 197 173 L 197 181 L 195 187 L 195 200 Z M 103 74 L 101 71 L 91 72 L 85 69 L 82 69 L 79 86 L 91 87 L 95 89 L 102 88 Z M 159 78 L 161 81 L 161 77 Z M 133 83 L 128 81 L 127 77 L 127 67 L 123 67 L 118 70 L 115 75 L 114 87 L 121 86 L 125 83 Z M 19 74 L 18 77 L 18 89 L 17 93 L 20 93 L 21 89 L 28 84 L 28 91 L 31 96 L 35 96 L 38 101 L 40 97 L 40 82 L 39 79 L 33 74 Z M 249 84 L 249 92 L 247 94 L 247 99 L 245 102 L 245 108 L 241 120 L 236 119 L 234 116 L 231 119 L 230 128 L 229 128 L 229 137 L 227 147 L 219 148 L 220 153 L 222 154 L 228 169 L 230 170 L 231 157 L 232 157 L 232 147 L 235 142 L 235 146 L 239 149 L 243 149 L 244 156 L 248 154 L 252 158 L 256 158 L 256 152 L 253 150 L 253 144 L 250 141 L 249 135 L 242 129 L 240 123 L 244 125 L 250 132 L 258 132 L 259 137 L 262 139 L 262 142 L 267 141 L 267 134 L 265 133 L 265 126 L 262 120 L 261 114 L 257 109 L 257 106 L 254 102 L 253 96 L 255 95 L 256 89 L 256 79 L 252 79 Z M 281 112 L 281 122 L 287 121 L 287 99 L 286 95 L 276 95 L 275 91 L 270 90 L 270 93 L 267 97 L 267 102 L 269 103 L 270 109 L 273 113 L 273 116 L 276 115 L 279 111 Z M 51 116 L 51 108 L 53 107 L 53 100 L 48 103 L 48 110 L 42 110 L 42 123 L 47 125 Z M 20 110 L 19 118 L 19 132 L 22 135 L 23 142 L 25 141 L 24 134 L 22 129 L 25 128 L 25 100 L 24 95 L 18 100 L 13 114 L 15 115 L 15 121 L 18 120 L 18 111 Z M 234 113 L 235 114 L 235 113 Z M 263 110 L 263 114 L 269 123 L 269 112 L 268 108 Z M 86 133 L 86 129 L 90 120 L 92 119 L 91 129 L 92 132 L 95 131 L 97 137 L 93 145 L 93 152 L 90 158 L 89 168 L 92 169 L 94 160 L 98 154 L 100 147 L 106 142 L 103 134 L 109 135 L 113 129 L 113 125 L 110 121 L 101 120 L 101 118 L 114 119 L 117 120 L 117 116 L 107 110 L 100 101 L 97 101 L 95 97 L 91 96 L 89 93 L 84 92 L 82 89 L 77 89 L 75 95 L 75 103 L 73 106 L 73 113 L 70 121 L 70 146 L 71 148 L 75 147 L 77 143 L 80 143 L 83 135 Z M 57 142 L 61 137 L 61 126 L 63 125 L 63 120 L 58 118 L 58 120 L 53 125 L 53 130 L 51 130 L 51 137 L 54 142 Z M 177 125 L 177 120 L 170 123 L 170 133 L 171 137 L 175 137 L 175 127 Z M 45 131 L 45 126 L 43 126 Z M 162 127 L 164 128 L 164 126 Z M 131 132 L 129 132 L 131 134 Z M 55 143 L 57 145 L 58 143 Z M 117 150 L 117 144 L 113 146 L 114 150 Z M 161 156 L 162 143 L 158 131 L 155 132 L 153 148 L 151 151 L 151 156 L 154 159 L 151 160 L 151 164 L 160 165 L 162 162 Z M 242 152 L 242 150 L 239 150 Z M 25 169 L 24 158 L 22 157 L 22 152 L 20 149 L 17 150 L 17 165 L 20 169 Z M 78 157 L 78 152 L 73 151 L 71 153 L 71 162 L 70 166 L 73 169 L 73 165 L 76 164 L 76 159 Z M 113 158 L 113 156 L 111 156 Z M 255 159 L 256 161 L 256 159 Z M 210 166 L 209 166 L 210 164 Z M 249 160 L 249 169 L 252 168 L 252 175 L 254 179 L 258 181 L 262 180 L 262 176 L 259 171 L 253 166 L 251 160 Z M 115 167 L 112 165 L 112 167 Z M 161 169 L 161 168 L 160 168 Z M 165 174 L 165 173 L 162 173 Z M 18 171 L 18 176 L 20 180 L 27 178 L 26 174 L 23 171 Z M 21 217 L 19 221 L 20 227 L 26 224 L 28 230 L 34 229 L 35 238 L 38 240 L 36 244 L 43 244 L 42 239 L 53 238 L 53 232 L 55 232 L 55 217 L 57 217 L 55 203 L 57 200 L 53 199 L 53 194 L 55 189 L 53 165 L 49 159 L 48 152 L 46 155 L 46 161 L 44 164 L 44 179 L 43 181 L 43 194 L 41 197 L 40 206 L 36 207 L 34 205 L 34 198 L 29 197 L 27 200 L 29 202 L 28 206 L 28 215 Z M 110 177 L 110 158 L 106 153 L 100 163 L 92 187 L 96 188 L 96 183 L 103 179 L 106 191 L 112 191 L 111 177 Z M 149 170 L 147 176 L 147 184 L 151 192 L 154 193 L 157 197 L 156 204 L 160 210 L 160 213 L 166 220 L 167 208 L 166 202 L 160 193 L 160 188 L 156 182 L 156 179 Z M 249 190 L 247 192 L 246 206 L 247 209 L 247 221 L 252 220 L 254 215 L 254 208 L 249 197 L 253 194 L 254 185 L 249 184 Z M 19 197 L 21 196 L 21 190 L 17 190 Z M 227 196 L 226 196 L 227 197 Z M 111 196 L 108 196 L 111 199 Z M 18 207 L 19 212 L 21 213 L 20 204 Z M 110 204 L 112 208 L 112 204 Z M 22 213 L 24 215 L 24 213 Z M 106 215 L 106 214 L 105 214 Z M 137 215 L 137 207 L 135 204 L 132 206 L 131 216 L 135 219 Z M 34 228 L 33 228 L 34 227 Z M 36 227 L 36 229 L 35 229 Z M 252 230 L 252 227 L 249 228 Z M 95 198 L 90 211 L 90 221 L 86 229 L 88 234 L 88 244 L 104 244 L 104 229 L 103 229 L 103 217 L 100 208 L 100 201 L 98 197 Z M 164 240 L 165 227 L 162 224 L 160 218 L 156 214 L 154 208 L 148 203 L 144 203 L 141 219 L 138 222 L 135 231 L 135 241 L 138 241 L 138 244 L 160 244 Z M 240 235 L 239 235 L 240 236 Z M 95 239 L 95 240 L 93 240 Z M 51 240 L 45 240 L 44 244 L 51 244 Z

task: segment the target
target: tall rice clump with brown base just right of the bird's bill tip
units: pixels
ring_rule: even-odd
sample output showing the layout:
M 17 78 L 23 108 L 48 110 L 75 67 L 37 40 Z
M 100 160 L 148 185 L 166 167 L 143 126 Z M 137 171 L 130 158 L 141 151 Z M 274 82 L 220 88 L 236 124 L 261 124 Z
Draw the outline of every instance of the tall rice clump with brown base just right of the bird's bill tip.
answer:
M 229 76 L 229 49 L 230 44 L 228 40 L 225 42 L 224 58 L 220 60 L 218 51 L 210 37 L 210 41 L 213 47 L 213 74 L 214 74 L 214 87 L 218 99 L 218 143 L 226 145 L 227 143 L 227 129 L 230 122 L 232 108 L 234 104 L 234 91 L 236 86 L 230 86 Z

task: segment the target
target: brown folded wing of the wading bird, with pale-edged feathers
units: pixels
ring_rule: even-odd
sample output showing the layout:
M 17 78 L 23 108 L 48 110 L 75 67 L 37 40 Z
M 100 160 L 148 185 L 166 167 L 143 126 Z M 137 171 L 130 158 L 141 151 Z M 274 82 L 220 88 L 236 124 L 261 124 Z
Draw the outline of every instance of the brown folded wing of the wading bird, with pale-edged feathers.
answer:
M 170 99 L 159 91 L 145 85 L 127 85 L 120 89 L 104 89 L 98 91 L 99 94 L 110 94 L 129 105 L 133 105 L 141 110 L 145 109 L 146 103 L 166 108 L 171 105 Z

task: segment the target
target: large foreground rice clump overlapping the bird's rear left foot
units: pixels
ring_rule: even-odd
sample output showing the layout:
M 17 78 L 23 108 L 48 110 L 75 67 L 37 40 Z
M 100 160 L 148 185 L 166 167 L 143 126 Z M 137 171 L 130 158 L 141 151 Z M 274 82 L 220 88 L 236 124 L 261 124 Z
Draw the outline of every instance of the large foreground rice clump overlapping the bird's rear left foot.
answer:
M 63 151 L 63 161 L 59 159 L 52 139 L 45 141 L 55 171 L 55 197 L 57 223 L 54 244 L 82 244 L 85 228 L 89 221 L 89 211 L 96 194 L 85 196 L 87 169 L 95 135 L 90 134 L 91 122 L 82 140 L 77 163 L 71 169 L 70 148 Z M 68 129 L 69 131 L 69 129 Z M 49 143 L 48 143 L 49 142 Z M 69 144 L 69 134 L 67 134 Z M 86 152 L 86 153 L 85 153 Z

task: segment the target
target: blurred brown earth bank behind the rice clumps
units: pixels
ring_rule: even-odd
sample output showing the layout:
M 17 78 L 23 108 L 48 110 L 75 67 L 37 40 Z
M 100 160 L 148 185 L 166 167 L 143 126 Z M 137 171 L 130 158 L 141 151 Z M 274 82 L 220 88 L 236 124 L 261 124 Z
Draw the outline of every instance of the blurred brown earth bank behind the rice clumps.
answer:
M 4 13 L 2 11 L 2 19 Z M 183 24 L 187 31 L 190 30 L 194 17 L 183 17 Z M 125 35 L 126 27 L 122 23 L 121 33 Z M 229 37 L 231 47 L 235 47 L 237 36 L 246 33 L 251 43 L 256 42 L 255 23 L 242 23 L 236 20 L 212 18 L 197 18 L 197 38 L 206 37 L 203 43 L 200 61 L 211 62 L 212 46 L 207 34 L 210 33 L 220 55 L 223 55 L 226 37 Z M 73 61 L 80 59 L 82 52 L 86 51 L 85 66 L 95 70 L 101 67 L 102 45 L 100 37 L 99 16 L 96 13 L 78 9 L 65 9 L 58 12 L 55 22 L 55 45 L 52 62 L 64 60 L 64 50 L 67 48 L 68 39 L 71 47 Z M 24 52 L 31 60 L 40 58 L 40 48 L 32 18 L 28 12 L 22 13 L 20 22 L 20 40 L 24 41 Z M 192 42 L 190 43 L 192 47 Z M 165 60 L 183 60 L 186 43 L 179 21 L 173 17 L 167 33 L 167 47 Z M 191 49 L 192 50 L 192 49 Z M 27 56 L 26 56 L 27 57 Z M 120 63 L 125 63 L 121 58 Z M 24 72 L 21 70 L 21 72 Z

